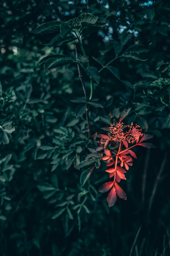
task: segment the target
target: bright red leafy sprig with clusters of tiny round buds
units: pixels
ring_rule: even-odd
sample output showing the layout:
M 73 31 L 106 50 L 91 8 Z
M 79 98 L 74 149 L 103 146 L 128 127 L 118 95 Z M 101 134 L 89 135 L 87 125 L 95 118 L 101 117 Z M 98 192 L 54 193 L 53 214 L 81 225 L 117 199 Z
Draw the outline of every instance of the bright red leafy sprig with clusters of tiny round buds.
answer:
M 127 198 L 125 192 L 120 188 L 117 182 L 120 182 L 121 179 L 126 179 L 124 174 L 126 173 L 126 170 L 129 169 L 129 166 L 133 164 L 133 159 L 131 156 L 137 158 L 136 154 L 132 150 L 130 150 L 130 148 L 136 145 L 148 148 L 155 147 L 151 143 L 142 143 L 143 141 L 148 140 L 153 136 L 149 134 L 144 135 L 144 133 L 142 133 L 142 129 L 140 129 L 140 126 L 138 126 L 137 124 L 133 126 L 132 123 L 131 126 L 128 126 L 129 130 L 125 132 L 123 132 L 122 127 L 123 123 L 118 123 L 116 124 L 116 126 L 113 126 L 111 124 L 110 132 L 108 133 L 108 135 L 97 135 L 99 138 L 101 138 L 100 141 L 98 141 L 101 148 L 100 150 L 106 148 L 106 146 L 109 146 L 112 143 L 114 143 L 115 145 L 119 144 L 118 151 L 113 149 L 104 149 L 105 156 L 103 156 L 102 154 L 102 160 L 106 162 L 106 166 L 113 166 L 112 168 L 106 169 L 106 172 L 109 173 L 109 178 L 114 177 L 114 180 L 106 182 L 99 189 L 99 192 L 106 192 L 111 189 L 110 193 L 107 196 L 109 207 L 115 204 L 117 197 L 116 195 L 118 195 L 120 198 L 123 198 L 124 200 L 126 200 Z M 139 141 L 140 137 L 142 138 Z M 128 143 L 135 143 L 135 145 L 128 147 Z M 126 149 L 122 150 L 122 146 L 124 146 Z M 130 154 L 131 156 L 128 154 Z M 118 166 L 119 163 L 120 166 Z M 123 166 L 126 170 L 123 168 Z

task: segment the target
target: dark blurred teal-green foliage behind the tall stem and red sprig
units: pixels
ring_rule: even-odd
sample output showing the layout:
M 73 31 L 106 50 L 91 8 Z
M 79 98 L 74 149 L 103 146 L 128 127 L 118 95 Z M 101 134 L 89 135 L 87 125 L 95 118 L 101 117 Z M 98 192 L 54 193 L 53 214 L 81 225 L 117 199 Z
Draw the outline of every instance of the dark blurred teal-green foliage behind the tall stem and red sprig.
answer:
M 68 2 L 0 3 L 0 125 L 12 121 L 15 127 L 8 134 L 9 144 L 1 142 L 0 150 L 0 255 L 170 255 L 168 1 Z M 105 163 L 80 188 L 82 170 L 73 165 L 66 169 L 68 156 L 64 154 L 72 147 L 71 141 L 63 139 L 61 145 L 57 144 L 65 151 L 53 172 L 52 160 L 38 148 L 54 146 L 53 139 L 59 136 L 55 137 L 53 129 L 59 127 L 75 131 L 75 139 L 83 138 L 82 144 L 76 145 L 82 148 L 80 161 L 92 147 L 83 137 L 87 137 L 85 116 L 77 121 L 77 105 L 71 102 L 83 96 L 77 66 L 44 71 L 37 64 L 45 55 L 74 53 L 75 43 L 49 47 L 44 44 L 50 42 L 51 34 L 28 33 L 43 22 L 67 21 L 82 12 L 108 23 L 101 32 L 83 41 L 90 64 L 98 70 L 102 66 L 92 57 L 106 63 L 115 58 L 115 45 L 121 40 L 120 25 L 132 30 L 122 53 L 134 44 L 148 49 L 141 53 L 146 61 L 120 57 L 112 63 L 120 72 L 120 80 L 104 69 L 100 83 L 94 83 L 94 97 L 99 98 L 104 109 L 90 109 L 92 134 L 107 134 L 101 128 L 108 126 L 106 116 L 114 108 L 122 111 L 132 107 L 124 123 L 140 124 L 145 133 L 153 135 L 152 143 L 157 146 L 135 148 L 137 160 L 127 172 L 127 180 L 121 181 L 127 201 L 117 198 L 111 208 L 107 195 L 97 192 L 108 181 Z M 113 33 L 108 27 L 113 28 Z M 83 75 L 89 95 L 90 80 Z M 31 86 L 32 104 L 26 103 Z M 61 212 L 66 205 L 71 215 L 67 210 Z M 58 216 L 52 218 L 56 213 Z

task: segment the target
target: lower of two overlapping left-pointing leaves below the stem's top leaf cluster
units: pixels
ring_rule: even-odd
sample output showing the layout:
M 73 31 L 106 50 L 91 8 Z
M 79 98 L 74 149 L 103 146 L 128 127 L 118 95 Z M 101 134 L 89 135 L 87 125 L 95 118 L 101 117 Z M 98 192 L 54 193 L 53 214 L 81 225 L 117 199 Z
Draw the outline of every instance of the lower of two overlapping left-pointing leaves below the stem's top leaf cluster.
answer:
M 48 69 L 51 69 L 51 68 L 60 67 L 60 66 L 72 63 L 72 62 L 74 62 L 74 60 L 71 57 L 69 57 L 69 56 L 64 57 L 64 58 L 59 58 L 59 59 L 50 58 L 45 63 L 45 70 L 48 70 Z

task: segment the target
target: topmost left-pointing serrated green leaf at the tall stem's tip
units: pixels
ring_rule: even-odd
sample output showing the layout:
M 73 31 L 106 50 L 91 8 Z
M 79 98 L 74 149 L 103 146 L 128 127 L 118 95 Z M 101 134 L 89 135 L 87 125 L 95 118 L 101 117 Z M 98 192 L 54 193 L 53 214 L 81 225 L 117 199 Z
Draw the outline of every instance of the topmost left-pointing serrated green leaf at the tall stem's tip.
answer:
M 33 31 L 29 31 L 33 34 L 47 34 L 60 31 L 61 21 L 50 21 L 37 26 Z

